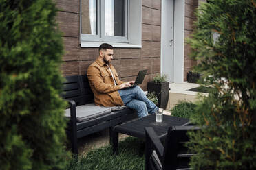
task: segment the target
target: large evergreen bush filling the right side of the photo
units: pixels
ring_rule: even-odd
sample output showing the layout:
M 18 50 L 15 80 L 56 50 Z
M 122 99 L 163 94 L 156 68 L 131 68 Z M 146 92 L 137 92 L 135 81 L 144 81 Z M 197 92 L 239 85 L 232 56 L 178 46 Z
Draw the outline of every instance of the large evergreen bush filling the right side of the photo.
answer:
M 193 169 L 256 169 L 256 1 L 209 0 L 189 40 L 196 70 L 212 85 L 196 108 Z M 219 37 L 213 40 L 213 33 Z M 208 75 L 212 75 L 211 77 Z

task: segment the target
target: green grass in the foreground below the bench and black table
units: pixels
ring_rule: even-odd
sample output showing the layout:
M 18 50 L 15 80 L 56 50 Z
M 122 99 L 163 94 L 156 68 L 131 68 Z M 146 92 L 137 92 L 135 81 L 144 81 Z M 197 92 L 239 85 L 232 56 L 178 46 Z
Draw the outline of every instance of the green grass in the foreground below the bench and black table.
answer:
M 67 170 L 142 170 L 145 169 L 145 156 L 139 156 L 142 141 L 138 138 L 126 138 L 119 143 L 119 154 L 112 155 L 110 145 L 89 151 L 86 158 L 70 160 Z

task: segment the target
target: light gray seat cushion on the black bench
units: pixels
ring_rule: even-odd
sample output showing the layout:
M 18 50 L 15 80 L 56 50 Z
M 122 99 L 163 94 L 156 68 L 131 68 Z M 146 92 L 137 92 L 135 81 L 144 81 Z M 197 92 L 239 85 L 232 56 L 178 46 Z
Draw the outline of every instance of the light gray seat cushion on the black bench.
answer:
M 95 104 L 76 106 L 76 121 L 89 121 L 110 113 L 111 108 L 96 106 Z M 65 110 L 65 117 L 70 117 L 70 108 Z

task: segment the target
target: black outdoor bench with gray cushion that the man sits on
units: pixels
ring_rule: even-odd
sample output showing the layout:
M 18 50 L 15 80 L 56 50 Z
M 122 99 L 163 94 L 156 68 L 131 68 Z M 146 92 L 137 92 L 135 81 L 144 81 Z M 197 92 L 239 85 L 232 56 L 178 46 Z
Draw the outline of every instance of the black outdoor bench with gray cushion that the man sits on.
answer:
M 111 140 L 112 129 L 115 125 L 137 117 L 137 113 L 126 106 L 96 106 L 86 75 L 65 77 L 61 96 L 70 104 L 70 108 L 65 110 L 65 116 L 70 119 L 67 136 L 70 138 L 74 154 L 78 154 L 78 138 L 109 127 Z

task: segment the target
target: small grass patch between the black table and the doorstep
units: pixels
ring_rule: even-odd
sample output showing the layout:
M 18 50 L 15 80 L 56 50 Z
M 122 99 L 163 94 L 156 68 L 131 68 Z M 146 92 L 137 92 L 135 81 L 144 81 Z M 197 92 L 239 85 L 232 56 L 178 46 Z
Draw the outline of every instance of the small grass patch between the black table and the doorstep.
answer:
M 195 104 L 189 101 L 180 101 L 171 109 L 171 116 L 190 119 L 195 115 Z

